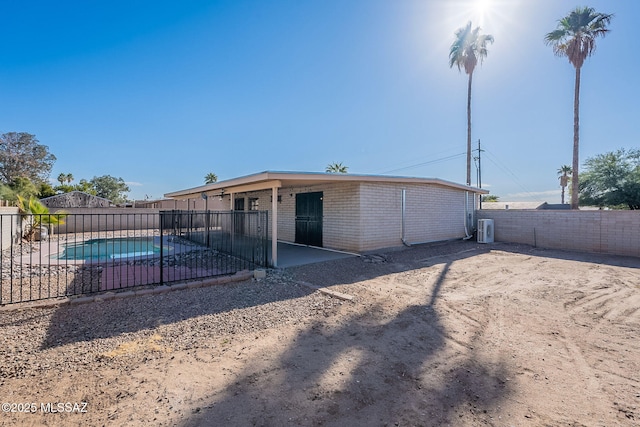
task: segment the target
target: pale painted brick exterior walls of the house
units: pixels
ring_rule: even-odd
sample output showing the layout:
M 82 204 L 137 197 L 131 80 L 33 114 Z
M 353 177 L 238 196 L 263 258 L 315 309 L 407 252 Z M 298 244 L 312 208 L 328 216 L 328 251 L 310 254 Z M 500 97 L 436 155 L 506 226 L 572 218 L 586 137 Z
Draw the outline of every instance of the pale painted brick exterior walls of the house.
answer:
M 296 194 L 323 193 L 323 246 L 366 252 L 402 246 L 402 189 L 406 189 L 405 239 L 424 243 L 462 238 L 465 192 L 438 185 L 348 182 L 278 190 L 278 240 L 295 241 Z M 269 212 L 272 235 L 271 190 L 236 194 L 257 198 L 260 210 Z M 227 199 L 228 200 L 228 199 Z M 472 200 L 472 199 L 471 199 Z M 472 203 L 469 205 L 472 210 Z

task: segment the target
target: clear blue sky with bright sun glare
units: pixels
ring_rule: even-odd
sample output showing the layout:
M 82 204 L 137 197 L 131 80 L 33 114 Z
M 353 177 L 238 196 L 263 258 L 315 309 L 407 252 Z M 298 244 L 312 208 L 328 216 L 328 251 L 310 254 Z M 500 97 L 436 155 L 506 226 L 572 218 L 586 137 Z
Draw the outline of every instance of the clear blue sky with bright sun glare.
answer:
M 481 9 L 478 5 L 485 4 Z M 457 28 L 494 36 L 474 73 L 483 187 L 559 203 L 574 69 L 544 35 L 567 0 L 2 2 L 0 132 L 57 157 L 51 179 L 123 178 L 130 198 L 264 170 L 466 177 Z M 637 0 L 583 67 L 581 160 L 638 147 Z M 472 171 L 475 184 L 475 168 Z

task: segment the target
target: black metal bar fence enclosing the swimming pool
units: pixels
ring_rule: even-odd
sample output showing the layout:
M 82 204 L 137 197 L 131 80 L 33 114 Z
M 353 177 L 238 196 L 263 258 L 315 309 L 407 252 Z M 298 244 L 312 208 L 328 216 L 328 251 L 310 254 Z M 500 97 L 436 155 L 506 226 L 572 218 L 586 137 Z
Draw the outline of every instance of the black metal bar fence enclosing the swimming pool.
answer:
M 267 220 L 264 211 L 0 215 L 0 305 L 264 267 Z

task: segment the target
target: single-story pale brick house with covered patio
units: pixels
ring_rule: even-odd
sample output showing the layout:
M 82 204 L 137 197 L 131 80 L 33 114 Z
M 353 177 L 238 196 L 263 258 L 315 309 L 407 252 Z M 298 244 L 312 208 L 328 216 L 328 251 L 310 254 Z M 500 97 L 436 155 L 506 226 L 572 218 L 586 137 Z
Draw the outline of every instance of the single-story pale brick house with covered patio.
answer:
M 212 200 L 210 210 L 268 210 L 277 241 L 349 252 L 469 236 L 479 188 L 432 178 L 261 172 L 165 194 Z

